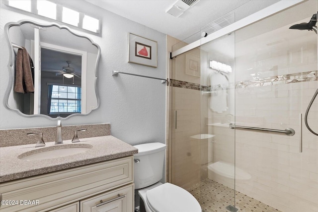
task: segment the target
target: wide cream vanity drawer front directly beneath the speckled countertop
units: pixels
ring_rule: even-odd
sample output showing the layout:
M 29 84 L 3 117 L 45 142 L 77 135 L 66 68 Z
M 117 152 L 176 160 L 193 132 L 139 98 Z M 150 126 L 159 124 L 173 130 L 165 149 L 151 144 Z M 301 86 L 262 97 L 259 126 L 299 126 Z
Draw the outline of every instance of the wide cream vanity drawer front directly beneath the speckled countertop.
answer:
M 1 183 L 1 200 L 38 200 L 39 204 L 1 205 L 0 211 L 51 210 L 132 183 L 132 164 L 131 156 Z

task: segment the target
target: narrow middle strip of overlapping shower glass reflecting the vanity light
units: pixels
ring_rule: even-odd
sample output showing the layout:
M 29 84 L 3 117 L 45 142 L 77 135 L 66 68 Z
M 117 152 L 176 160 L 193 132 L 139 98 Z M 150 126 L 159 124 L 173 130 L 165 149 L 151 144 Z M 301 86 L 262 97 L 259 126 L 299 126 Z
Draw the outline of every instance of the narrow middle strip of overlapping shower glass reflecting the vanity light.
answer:
M 230 24 L 234 14 L 204 29 Z M 201 49 L 201 207 L 205 212 L 235 212 L 235 33 L 203 44 Z

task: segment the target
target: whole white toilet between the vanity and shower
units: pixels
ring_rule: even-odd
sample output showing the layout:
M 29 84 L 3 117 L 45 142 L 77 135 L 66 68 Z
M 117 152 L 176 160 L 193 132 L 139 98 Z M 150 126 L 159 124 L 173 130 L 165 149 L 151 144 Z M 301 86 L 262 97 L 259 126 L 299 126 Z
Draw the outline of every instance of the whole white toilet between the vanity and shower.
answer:
M 186 190 L 170 183 L 160 183 L 166 146 L 148 143 L 134 146 L 135 189 L 144 202 L 146 212 L 202 212 L 198 201 Z M 140 212 L 144 209 L 141 205 Z

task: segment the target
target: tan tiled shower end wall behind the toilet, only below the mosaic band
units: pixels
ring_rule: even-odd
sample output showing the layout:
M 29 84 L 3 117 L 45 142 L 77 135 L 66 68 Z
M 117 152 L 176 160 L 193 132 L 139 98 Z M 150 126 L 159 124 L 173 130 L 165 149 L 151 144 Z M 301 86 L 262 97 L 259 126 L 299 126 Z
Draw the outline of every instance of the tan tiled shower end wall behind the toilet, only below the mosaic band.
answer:
M 172 183 L 182 188 L 200 182 L 200 91 L 171 87 L 172 106 Z M 175 113 L 177 111 L 177 113 Z M 177 114 L 175 124 L 175 114 Z

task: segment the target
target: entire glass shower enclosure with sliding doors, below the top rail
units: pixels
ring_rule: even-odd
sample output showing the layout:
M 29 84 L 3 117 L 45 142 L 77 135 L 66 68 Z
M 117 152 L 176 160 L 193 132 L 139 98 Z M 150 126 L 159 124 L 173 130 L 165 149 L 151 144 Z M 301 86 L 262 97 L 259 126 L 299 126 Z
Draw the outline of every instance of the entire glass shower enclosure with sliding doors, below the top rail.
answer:
M 317 28 L 290 29 L 317 20 L 317 4 L 172 59 L 169 179 L 204 212 L 317 212 L 318 136 L 305 124 L 318 133 Z

